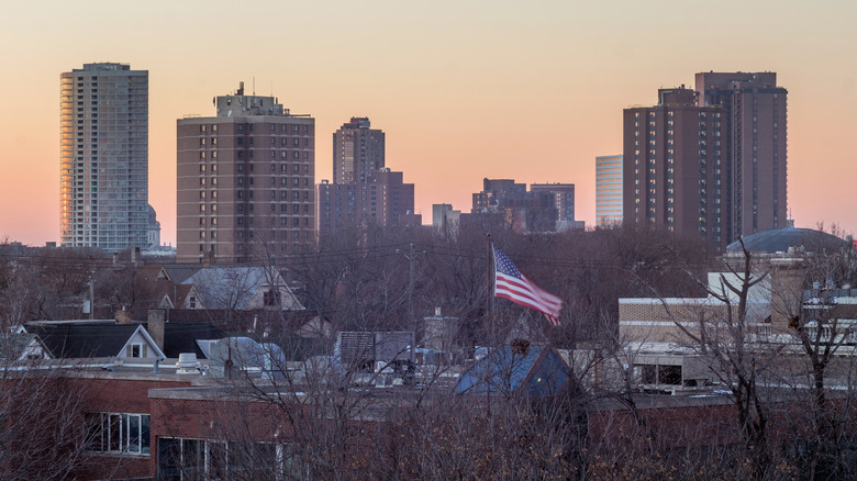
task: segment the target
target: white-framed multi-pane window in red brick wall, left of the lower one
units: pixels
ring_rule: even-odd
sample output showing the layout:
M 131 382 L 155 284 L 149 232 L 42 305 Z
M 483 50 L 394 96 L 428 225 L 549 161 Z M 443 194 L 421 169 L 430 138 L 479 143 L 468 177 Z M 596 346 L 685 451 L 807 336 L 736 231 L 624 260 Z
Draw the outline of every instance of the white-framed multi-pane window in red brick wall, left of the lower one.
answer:
M 148 414 L 86 413 L 84 423 L 90 451 L 149 454 Z

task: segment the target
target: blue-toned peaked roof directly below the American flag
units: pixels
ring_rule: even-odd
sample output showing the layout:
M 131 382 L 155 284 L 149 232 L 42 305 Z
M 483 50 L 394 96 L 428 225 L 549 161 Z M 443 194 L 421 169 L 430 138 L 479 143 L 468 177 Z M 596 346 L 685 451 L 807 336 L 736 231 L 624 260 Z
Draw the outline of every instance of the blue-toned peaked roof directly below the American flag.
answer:
M 455 392 L 498 395 L 523 393 L 533 396 L 558 394 L 570 373 L 559 353 L 550 345 L 532 345 L 519 354 L 504 345 L 461 374 Z

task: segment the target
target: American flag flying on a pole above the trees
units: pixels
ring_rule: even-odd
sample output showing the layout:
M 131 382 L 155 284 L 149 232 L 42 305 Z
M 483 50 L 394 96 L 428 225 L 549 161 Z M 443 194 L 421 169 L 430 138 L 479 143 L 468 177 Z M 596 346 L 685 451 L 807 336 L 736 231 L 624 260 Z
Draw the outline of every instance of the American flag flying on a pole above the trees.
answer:
M 559 325 L 563 300 L 530 281 L 497 246 L 494 249 L 494 297 L 505 298 L 545 314 L 552 325 Z

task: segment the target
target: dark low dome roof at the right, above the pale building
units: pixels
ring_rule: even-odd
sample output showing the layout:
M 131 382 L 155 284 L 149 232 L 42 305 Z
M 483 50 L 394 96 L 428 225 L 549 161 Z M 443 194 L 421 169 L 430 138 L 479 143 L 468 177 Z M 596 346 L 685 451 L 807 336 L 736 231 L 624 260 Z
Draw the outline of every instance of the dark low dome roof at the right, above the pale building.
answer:
M 744 246 L 752 253 L 784 253 L 789 247 L 803 247 L 809 251 L 834 251 L 848 246 L 835 235 L 812 228 L 783 227 L 757 232 L 744 237 Z M 735 240 L 726 246 L 728 253 L 739 253 L 741 244 Z

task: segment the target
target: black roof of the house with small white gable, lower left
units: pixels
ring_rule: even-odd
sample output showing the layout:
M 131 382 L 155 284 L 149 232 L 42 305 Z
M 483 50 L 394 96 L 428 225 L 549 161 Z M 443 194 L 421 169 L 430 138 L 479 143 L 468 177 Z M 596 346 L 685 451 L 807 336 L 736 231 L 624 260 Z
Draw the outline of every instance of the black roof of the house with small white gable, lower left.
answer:
M 137 331 L 154 349 L 157 346 L 140 324 L 59 323 L 29 324 L 26 331 L 36 334 L 55 358 L 115 357 Z

